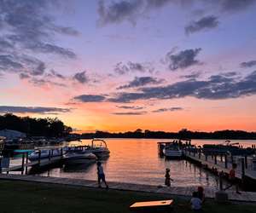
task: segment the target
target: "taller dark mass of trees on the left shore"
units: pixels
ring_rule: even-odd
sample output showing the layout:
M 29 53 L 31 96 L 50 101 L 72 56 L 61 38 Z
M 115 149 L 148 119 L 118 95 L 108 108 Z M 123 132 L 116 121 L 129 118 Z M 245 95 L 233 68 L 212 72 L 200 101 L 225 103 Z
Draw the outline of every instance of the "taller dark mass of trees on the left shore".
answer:
M 17 130 L 27 136 L 61 137 L 69 135 L 72 128 L 58 118 L 18 117 L 7 113 L 0 115 L 0 130 Z

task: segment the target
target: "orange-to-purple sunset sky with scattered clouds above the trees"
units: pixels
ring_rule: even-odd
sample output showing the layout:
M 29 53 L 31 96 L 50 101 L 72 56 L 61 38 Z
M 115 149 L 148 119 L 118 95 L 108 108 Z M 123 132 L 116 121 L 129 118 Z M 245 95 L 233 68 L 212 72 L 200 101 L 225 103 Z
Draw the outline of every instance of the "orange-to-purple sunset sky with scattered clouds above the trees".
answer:
M 256 130 L 256 1 L 0 0 L 0 113 L 77 132 Z

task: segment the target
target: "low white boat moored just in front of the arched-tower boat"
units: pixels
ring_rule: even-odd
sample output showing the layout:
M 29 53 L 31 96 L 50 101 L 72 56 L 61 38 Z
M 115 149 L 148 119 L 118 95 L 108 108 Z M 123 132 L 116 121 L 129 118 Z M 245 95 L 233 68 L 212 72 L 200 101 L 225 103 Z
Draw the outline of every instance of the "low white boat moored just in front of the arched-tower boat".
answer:
M 96 155 L 88 151 L 70 151 L 64 155 L 64 164 L 92 164 L 96 159 Z

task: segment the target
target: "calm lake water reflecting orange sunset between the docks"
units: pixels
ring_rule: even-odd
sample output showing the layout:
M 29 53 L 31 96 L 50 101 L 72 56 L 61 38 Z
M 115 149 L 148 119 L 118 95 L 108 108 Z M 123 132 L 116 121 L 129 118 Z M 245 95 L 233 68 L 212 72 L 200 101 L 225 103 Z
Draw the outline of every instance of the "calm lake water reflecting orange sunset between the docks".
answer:
M 218 187 L 218 179 L 209 172 L 185 160 L 165 160 L 158 155 L 158 139 L 106 139 L 110 157 L 102 161 L 108 181 L 122 181 L 150 185 L 162 185 L 166 168 L 171 169 L 172 186 Z M 169 140 L 170 141 L 170 140 Z M 216 140 L 193 140 L 192 144 L 222 143 Z M 239 141 L 243 147 L 251 147 L 256 141 Z M 70 145 L 86 145 L 90 141 L 72 142 Z M 96 180 L 96 164 L 73 168 L 54 168 L 41 176 L 69 177 Z

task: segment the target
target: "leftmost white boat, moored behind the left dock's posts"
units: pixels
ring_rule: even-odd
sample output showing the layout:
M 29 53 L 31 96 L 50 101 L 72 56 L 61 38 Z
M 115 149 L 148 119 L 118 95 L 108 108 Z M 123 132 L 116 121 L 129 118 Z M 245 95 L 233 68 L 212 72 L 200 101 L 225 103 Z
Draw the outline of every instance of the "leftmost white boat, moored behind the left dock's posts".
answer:
M 41 151 L 40 159 L 46 159 L 46 158 L 61 158 L 61 150 L 59 149 L 42 149 L 42 150 L 35 150 L 32 153 L 28 155 L 28 159 L 30 161 L 38 161 L 39 159 L 39 152 Z

